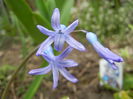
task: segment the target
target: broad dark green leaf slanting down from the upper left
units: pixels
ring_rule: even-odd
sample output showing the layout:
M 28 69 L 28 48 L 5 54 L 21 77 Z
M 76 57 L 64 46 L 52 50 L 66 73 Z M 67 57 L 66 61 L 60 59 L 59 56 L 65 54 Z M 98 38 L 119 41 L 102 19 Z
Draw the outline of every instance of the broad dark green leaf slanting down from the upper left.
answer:
M 35 43 L 40 43 L 43 40 L 43 34 L 39 33 L 36 29 L 32 10 L 25 0 L 5 0 L 5 3 L 24 25 L 28 34 L 33 38 Z

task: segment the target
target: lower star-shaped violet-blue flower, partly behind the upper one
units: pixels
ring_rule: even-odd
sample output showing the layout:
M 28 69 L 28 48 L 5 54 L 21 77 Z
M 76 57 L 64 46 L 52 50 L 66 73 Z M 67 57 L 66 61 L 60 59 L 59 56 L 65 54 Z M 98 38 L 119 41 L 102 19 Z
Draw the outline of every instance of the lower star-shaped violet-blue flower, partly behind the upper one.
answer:
M 29 72 L 31 75 L 43 75 L 52 71 L 53 73 L 53 89 L 58 86 L 59 72 L 69 81 L 76 83 L 78 81 L 73 75 L 71 75 L 66 67 L 75 67 L 78 64 L 70 59 L 64 59 L 71 51 L 72 47 L 67 47 L 62 54 L 54 56 L 53 49 L 49 46 L 42 54 L 43 58 L 49 63 L 47 67 L 33 69 Z

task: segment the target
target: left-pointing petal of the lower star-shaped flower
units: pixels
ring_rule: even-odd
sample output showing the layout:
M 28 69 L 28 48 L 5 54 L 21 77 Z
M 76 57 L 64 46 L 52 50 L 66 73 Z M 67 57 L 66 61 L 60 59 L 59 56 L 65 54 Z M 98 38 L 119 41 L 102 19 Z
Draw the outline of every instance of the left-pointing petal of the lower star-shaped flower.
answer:
M 51 66 L 47 66 L 47 67 L 43 67 L 43 68 L 39 68 L 39 69 L 33 69 L 31 71 L 29 71 L 30 75 L 42 75 L 42 74 L 47 74 L 48 72 L 50 72 L 51 70 Z

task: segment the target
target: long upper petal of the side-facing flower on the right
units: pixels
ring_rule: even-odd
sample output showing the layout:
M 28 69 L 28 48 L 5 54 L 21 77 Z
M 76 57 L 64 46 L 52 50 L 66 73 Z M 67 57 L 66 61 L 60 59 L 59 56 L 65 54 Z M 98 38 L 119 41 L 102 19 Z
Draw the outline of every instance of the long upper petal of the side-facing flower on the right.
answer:
M 112 51 L 110 51 L 108 48 L 105 48 L 102 46 L 98 41 L 93 43 L 93 47 L 96 50 L 96 52 L 105 60 L 113 60 L 115 62 L 122 62 L 123 58 L 116 55 Z

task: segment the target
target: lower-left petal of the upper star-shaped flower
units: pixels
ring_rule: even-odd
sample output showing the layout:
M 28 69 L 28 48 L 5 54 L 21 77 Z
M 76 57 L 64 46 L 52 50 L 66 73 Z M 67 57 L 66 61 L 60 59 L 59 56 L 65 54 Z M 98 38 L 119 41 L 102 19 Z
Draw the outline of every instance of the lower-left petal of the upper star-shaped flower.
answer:
M 53 43 L 53 37 L 48 37 L 39 47 L 36 56 L 39 56 L 44 53 L 44 51 Z

